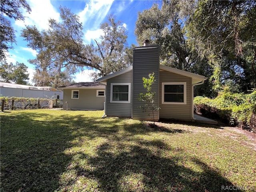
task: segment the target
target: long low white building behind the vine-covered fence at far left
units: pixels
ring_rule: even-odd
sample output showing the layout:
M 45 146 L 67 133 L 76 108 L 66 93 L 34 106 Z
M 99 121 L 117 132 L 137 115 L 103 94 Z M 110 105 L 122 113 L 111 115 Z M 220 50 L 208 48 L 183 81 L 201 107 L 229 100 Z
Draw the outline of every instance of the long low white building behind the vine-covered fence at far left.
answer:
M 6 97 L 63 99 L 63 92 L 52 87 L 36 87 L 0 82 L 0 94 Z

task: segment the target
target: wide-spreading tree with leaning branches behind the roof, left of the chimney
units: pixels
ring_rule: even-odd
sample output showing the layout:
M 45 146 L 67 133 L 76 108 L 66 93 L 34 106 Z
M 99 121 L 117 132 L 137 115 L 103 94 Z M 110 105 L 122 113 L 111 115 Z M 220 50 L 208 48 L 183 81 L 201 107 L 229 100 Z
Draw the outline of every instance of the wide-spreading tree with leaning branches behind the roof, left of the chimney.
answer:
M 29 60 L 38 72 L 65 69 L 74 74 L 95 69 L 94 78 L 98 78 L 129 65 L 124 62 L 127 31 L 114 16 L 108 16 L 108 22 L 100 25 L 103 34 L 94 44 L 84 44 L 82 23 L 70 9 L 60 7 L 60 18 L 60 22 L 50 19 L 48 30 L 39 31 L 35 26 L 22 30 L 27 46 L 38 52 L 36 59 Z

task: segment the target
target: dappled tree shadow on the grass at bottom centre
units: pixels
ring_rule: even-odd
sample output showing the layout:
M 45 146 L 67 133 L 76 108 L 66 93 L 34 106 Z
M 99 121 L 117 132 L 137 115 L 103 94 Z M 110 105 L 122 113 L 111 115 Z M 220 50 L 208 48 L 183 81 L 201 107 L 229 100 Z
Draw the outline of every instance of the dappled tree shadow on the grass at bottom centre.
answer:
M 156 146 L 159 153 L 145 146 Z M 164 191 L 211 191 L 219 192 L 222 186 L 232 186 L 216 170 L 213 170 L 196 158 L 190 159 L 199 171 L 181 164 L 183 156 L 161 156 L 161 148 L 168 148 L 160 140 L 129 146 L 128 151 L 118 154 L 112 152 L 112 146 L 102 144 L 97 149 L 97 156 L 90 157 L 93 170 L 77 168 L 78 176 L 93 178 L 98 181 L 100 191 L 123 192 L 164 192 Z M 174 153 L 183 153 L 170 149 Z

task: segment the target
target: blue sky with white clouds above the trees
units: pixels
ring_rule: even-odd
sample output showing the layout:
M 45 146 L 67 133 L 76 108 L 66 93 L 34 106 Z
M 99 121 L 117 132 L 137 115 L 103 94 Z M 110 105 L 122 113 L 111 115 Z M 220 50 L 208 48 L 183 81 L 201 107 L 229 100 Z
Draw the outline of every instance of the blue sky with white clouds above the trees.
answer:
M 25 21 L 12 21 L 12 26 L 16 30 L 16 44 L 14 49 L 9 50 L 8 62 L 24 63 L 28 66 L 30 80 L 32 79 L 34 66 L 27 60 L 36 57 L 36 51 L 28 48 L 28 42 L 20 37 L 20 31 L 25 25 L 35 25 L 38 30 L 48 28 L 48 19 L 60 20 L 59 6 L 70 8 L 71 12 L 80 16 L 80 22 L 84 26 L 84 43 L 90 44 L 94 39 L 98 39 L 102 34 L 100 24 L 107 21 L 107 16 L 113 14 L 116 20 L 121 20 L 128 31 L 128 45 L 137 45 L 134 35 L 135 22 L 138 12 L 150 8 L 157 0 L 26 0 L 32 9 L 26 16 Z M 91 81 L 90 70 L 76 74 L 76 82 Z

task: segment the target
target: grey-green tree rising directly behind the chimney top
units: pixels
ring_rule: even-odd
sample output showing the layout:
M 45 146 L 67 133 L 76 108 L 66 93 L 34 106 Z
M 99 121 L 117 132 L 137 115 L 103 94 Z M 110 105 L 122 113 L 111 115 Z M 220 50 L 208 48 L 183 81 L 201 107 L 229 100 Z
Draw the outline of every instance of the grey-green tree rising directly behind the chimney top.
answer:
M 162 1 L 138 13 L 135 35 L 138 44 L 150 40 L 161 46 L 162 64 L 189 71 L 196 58 L 187 47 L 184 23 L 192 9 L 183 8 L 183 1 Z

